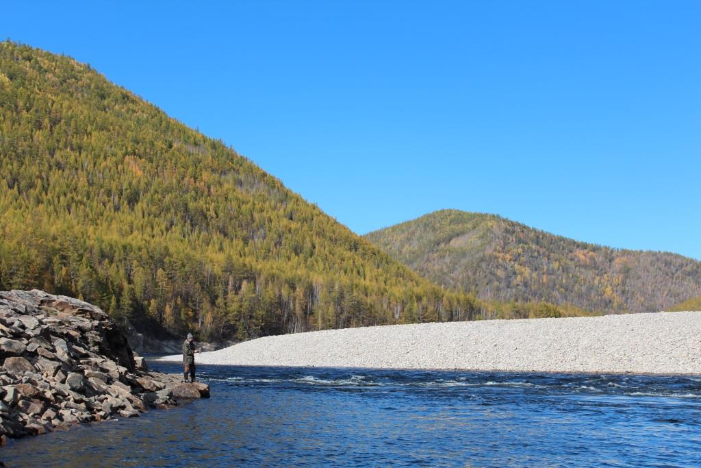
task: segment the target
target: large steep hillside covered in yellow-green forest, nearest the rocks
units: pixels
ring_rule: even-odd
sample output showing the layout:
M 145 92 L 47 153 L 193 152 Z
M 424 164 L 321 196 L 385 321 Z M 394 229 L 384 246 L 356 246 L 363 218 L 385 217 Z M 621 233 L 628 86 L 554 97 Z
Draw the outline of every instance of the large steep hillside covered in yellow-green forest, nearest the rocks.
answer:
M 89 65 L 9 41 L 0 168 L 0 290 L 205 338 L 477 311 Z

